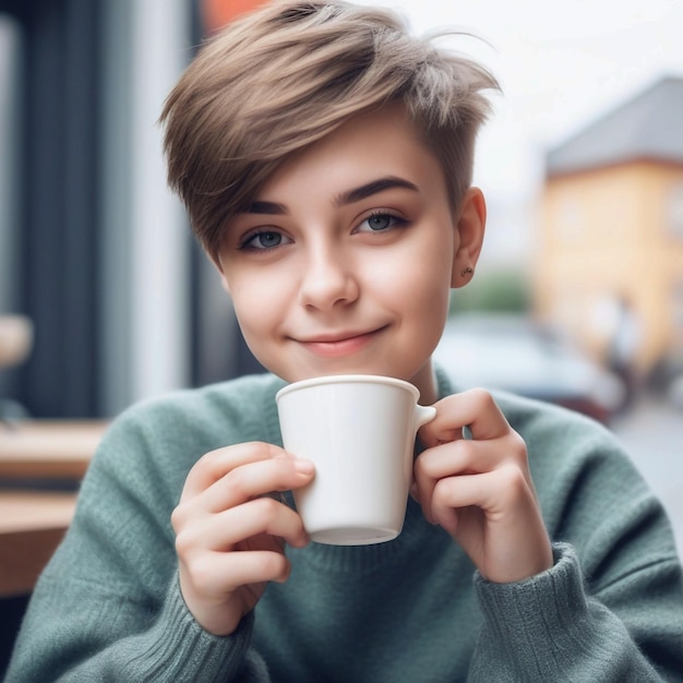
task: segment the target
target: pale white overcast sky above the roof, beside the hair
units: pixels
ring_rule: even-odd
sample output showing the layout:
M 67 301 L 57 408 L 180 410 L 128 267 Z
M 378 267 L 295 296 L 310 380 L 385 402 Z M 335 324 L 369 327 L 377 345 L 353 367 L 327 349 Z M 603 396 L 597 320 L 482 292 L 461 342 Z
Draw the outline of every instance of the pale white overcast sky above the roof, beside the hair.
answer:
M 662 75 L 683 76 L 683 0 L 364 0 L 398 9 L 415 33 L 439 26 L 483 61 L 504 96 L 479 144 L 490 196 L 536 192 L 542 155 Z

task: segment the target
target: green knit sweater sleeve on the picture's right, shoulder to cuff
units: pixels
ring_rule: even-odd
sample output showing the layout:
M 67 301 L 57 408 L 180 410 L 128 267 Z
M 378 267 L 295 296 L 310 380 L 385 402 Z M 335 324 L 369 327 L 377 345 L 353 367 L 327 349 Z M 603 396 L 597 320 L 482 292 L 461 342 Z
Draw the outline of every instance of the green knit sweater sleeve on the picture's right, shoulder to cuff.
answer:
M 472 681 L 683 681 L 683 571 L 661 503 L 609 432 L 560 408 L 507 404 L 525 439 L 554 565 L 478 576 Z

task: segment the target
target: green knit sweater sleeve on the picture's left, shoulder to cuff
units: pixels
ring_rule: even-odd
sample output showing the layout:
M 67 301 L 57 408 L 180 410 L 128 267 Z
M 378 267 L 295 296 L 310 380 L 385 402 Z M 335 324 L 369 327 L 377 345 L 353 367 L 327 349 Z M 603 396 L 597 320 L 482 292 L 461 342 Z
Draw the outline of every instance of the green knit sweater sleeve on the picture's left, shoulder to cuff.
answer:
M 253 614 L 216 637 L 183 601 L 170 512 L 197 446 L 173 415 L 164 420 L 120 419 L 103 441 L 32 596 L 8 683 L 268 680 Z

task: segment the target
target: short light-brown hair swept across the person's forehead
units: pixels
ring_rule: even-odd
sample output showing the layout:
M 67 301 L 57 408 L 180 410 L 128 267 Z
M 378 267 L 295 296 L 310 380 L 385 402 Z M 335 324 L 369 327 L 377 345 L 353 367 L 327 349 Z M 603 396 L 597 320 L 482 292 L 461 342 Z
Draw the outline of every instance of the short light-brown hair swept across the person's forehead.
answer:
M 390 10 L 275 0 L 209 38 L 166 100 L 168 181 L 216 259 L 226 227 L 292 154 L 402 104 L 440 161 L 450 200 L 471 183 L 475 140 L 498 89 L 480 64 L 409 35 Z

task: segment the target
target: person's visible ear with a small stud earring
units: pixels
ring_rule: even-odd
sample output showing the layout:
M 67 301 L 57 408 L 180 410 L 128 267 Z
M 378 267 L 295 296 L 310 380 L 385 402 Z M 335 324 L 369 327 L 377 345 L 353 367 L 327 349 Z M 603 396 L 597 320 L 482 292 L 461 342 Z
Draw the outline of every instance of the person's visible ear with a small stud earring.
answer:
M 455 219 L 455 251 L 451 287 L 464 287 L 475 273 L 487 226 L 487 203 L 479 188 L 469 188 Z

